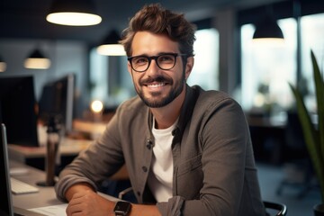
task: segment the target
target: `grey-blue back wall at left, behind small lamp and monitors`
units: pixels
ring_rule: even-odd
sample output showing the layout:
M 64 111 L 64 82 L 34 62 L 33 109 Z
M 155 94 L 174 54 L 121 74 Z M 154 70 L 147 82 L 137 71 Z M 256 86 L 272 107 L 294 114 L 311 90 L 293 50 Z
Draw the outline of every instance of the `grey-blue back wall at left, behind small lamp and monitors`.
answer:
M 24 59 L 32 50 L 39 48 L 50 58 L 49 69 L 27 69 L 23 67 Z M 76 74 L 76 96 L 78 99 L 76 114 L 82 112 L 86 103 L 81 96 L 86 96 L 86 77 L 88 71 L 88 53 L 85 43 L 70 40 L 0 40 L 0 56 L 7 64 L 1 76 L 34 76 L 36 98 L 40 98 L 42 86 L 67 73 Z

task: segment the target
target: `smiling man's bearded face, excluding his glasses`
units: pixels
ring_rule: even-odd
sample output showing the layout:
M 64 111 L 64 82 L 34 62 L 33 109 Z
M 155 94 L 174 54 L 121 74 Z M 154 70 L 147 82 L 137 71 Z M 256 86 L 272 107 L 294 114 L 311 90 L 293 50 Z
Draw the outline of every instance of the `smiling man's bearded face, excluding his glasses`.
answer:
M 170 40 L 164 34 L 154 34 L 148 31 L 139 31 L 135 34 L 131 45 L 132 56 L 157 56 L 161 53 L 178 53 L 178 43 Z M 148 69 L 144 72 L 132 70 L 130 62 L 128 69 L 136 92 L 148 107 L 163 107 L 171 103 L 184 90 L 185 79 L 190 69 L 183 67 L 183 58 L 176 57 L 175 67 L 163 70 L 157 67 L 156 60 L 152 59 Z M 189 67 L 188 67 L 189 68 Z

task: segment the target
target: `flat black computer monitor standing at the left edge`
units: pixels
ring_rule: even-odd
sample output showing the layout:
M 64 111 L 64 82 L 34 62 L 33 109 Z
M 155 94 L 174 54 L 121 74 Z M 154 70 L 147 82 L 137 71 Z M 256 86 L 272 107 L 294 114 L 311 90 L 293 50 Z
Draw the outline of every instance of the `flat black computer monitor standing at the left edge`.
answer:
M 33 76 L 0 77 L 0 122 L 10 144 L 38 147 Z

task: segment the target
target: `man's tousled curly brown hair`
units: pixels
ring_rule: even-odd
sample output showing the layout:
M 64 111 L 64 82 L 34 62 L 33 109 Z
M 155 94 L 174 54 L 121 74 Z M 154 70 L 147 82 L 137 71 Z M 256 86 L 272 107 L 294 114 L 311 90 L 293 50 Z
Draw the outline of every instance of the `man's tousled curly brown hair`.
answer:
M 193 56 L 195 26 L 189 23 L 184 14 L 175 14 L 160 4 L 144 5 L 130 20 L 130 25 L 121 33 L 120 43 L 127 56 L 131 56 L 131 43 L 137 31 L 156 34 L 166 33 L 171 40 L 179 43 L 179 50 L 187 57 Z

